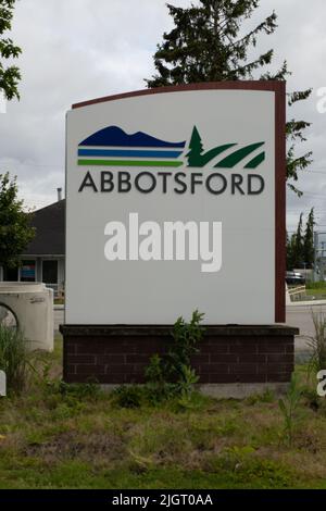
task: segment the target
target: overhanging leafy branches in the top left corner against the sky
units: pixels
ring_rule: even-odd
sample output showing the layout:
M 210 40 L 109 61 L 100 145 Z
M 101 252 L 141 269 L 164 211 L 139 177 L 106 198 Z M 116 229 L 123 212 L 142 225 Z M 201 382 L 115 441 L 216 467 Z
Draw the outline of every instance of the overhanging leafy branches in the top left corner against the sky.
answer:
M 13 40 L 5 35 L 12 28 L 14 7 L 15 0 L 0 0 L 0 91 L 4 92 L 8 100 L 20 99 L 17 86 L 21 72 L 15 65 L 5 66 L 4 64 L 4 61 L 16 59 L 22 52 L 21 48 L 15 46 Z

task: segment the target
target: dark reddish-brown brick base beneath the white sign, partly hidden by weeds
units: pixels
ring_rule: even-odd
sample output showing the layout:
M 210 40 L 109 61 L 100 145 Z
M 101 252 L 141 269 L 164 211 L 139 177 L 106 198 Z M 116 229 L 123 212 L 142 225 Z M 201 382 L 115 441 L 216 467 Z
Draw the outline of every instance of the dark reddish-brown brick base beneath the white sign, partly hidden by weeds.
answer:
M 172 326 L 61 325 L 64 381 L 143 383 L 154 353 L 163 354 Z M 206 326 L 192 357 L 200 384 L 285 383 L 293 371 L 294 335 L 288 326 Z

